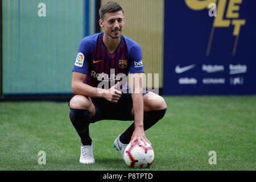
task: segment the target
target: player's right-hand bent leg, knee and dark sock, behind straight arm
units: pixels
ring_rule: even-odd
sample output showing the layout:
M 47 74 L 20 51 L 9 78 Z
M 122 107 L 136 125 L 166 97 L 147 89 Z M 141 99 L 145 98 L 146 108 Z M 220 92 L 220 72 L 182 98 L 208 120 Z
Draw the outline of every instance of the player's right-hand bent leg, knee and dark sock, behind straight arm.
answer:
M 150 129 L 156 122 L 164 117 L 167 110 L 167 105 L 161 96 L 155 93 L 149 92 L 143 96 L 143 125 L 144 130 Z M 131 115 L 134 115 L 133 109 Z M 134 123 L 120 136 L 120 141 L 124 144 L 128 144 L 131 140 L 131 136 L 134 131 Z

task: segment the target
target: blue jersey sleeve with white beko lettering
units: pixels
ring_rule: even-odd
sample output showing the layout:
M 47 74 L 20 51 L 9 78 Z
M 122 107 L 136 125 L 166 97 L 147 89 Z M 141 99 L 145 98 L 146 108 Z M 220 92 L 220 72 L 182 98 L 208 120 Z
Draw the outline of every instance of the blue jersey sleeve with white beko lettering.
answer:
M 142 62 L 142 50 L 139 44 L 134 44 L 130 52 L 130 73 L 144 73 Z

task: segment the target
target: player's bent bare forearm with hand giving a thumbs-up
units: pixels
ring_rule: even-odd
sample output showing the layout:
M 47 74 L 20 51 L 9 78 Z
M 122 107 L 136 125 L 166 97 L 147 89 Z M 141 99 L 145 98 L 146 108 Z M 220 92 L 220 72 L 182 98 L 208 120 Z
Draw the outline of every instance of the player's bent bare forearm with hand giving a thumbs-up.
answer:
M 122 92 L 116 90 L 119 82 L 115 84 L 112 88 L 106 90 L 84 84 L 85 77 L 86 75 L 84 73 L 73 72 L 72 91 L 74 94 L 87 97 L 102 97 L 114 103 L 116 103 L 121 97 Z

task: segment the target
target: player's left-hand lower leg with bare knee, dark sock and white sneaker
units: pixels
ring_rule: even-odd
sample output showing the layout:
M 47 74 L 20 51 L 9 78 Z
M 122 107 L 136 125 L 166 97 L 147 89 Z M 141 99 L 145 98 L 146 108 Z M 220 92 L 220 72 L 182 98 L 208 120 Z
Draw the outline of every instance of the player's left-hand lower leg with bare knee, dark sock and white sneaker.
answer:
M 94 163 L 92 151 L 92 139 L 89 135 L 89 124 L 95 115 L 95 107 L 92 100 L 85 96 L 74 96 L 69 102 L 71 109 L 69 118 L 81 138 L 80 163 Z

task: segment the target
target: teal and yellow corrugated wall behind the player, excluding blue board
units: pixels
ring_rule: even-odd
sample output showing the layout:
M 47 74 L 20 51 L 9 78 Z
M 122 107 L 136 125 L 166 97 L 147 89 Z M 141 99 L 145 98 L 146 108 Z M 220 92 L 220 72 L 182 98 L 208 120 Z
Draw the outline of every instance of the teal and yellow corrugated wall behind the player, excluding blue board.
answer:
M 164 1 L 117 2 L 125 9 L 123 34 L 141 44 L 145 73 L 159 74 L 162 88 Z M 39 15 L 43 13 L 40 3 L 46 5 L 45 16 Z M 70 98 L 73 60 L 81 39 L 102 31 L 98 26 L 102 3 L 100 0 L 2 0 L 1 98 L 52 100 L 65 95 Z

